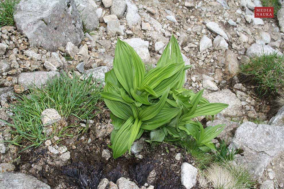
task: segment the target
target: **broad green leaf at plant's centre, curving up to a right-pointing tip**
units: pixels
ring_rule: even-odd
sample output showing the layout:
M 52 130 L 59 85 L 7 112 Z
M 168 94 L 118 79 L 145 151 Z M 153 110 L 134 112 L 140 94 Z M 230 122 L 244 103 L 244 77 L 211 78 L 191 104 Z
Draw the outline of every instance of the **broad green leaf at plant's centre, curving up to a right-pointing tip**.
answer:
M 139 112 L 138 117 L 142 120 L 142 121 L 147 121 L 149 119 L 152 119 L 153 117 L 155 117 L 164 107 L 164 104 L 166 103 L 166 99 L 168 97 L 170 88 L 167 88 L 164 92 L 164 94 L 162 95 L 160 101 L 158 103 L 156 103 L 155 105 L 149 105 L 146 108 L 142 109 L 142 111 Z

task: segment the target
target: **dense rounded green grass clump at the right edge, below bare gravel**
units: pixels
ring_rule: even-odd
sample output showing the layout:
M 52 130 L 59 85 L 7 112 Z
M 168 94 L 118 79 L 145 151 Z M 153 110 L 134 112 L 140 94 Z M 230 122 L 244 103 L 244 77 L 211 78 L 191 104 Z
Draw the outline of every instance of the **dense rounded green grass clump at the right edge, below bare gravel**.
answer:
M 250 59 L 246 65 L 241 65 L 240 72 L 244 80 L 256 86 L 256 92 L 263 96 L 267 93 L 277 94 L 284 86 L 284 55 L 277 52 L 263 54 Z

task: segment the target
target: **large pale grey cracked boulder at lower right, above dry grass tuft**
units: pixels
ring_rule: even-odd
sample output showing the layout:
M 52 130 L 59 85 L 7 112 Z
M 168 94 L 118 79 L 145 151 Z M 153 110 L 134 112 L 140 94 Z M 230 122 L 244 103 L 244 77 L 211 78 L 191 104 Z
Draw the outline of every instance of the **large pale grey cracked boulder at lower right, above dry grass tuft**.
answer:
M 245 122 L 235 132 L 230 147 L 241 148 L 234 162 L 260 178 L 273 157 L 284 152 L 284 127 Z

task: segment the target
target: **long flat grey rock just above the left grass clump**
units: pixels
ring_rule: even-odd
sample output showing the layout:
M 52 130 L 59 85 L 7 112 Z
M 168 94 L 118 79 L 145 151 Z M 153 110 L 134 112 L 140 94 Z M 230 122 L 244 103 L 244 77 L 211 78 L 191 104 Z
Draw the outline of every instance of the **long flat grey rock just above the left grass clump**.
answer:
M 35 72 L 22 72 L 17 76 L 18 84 L 22 86 L 37 86 L 41 87 L 44 86 L 49 79 L 53 79 L 59 76 L 59 72 L 42 72 L 42 71 L 35 71 Z

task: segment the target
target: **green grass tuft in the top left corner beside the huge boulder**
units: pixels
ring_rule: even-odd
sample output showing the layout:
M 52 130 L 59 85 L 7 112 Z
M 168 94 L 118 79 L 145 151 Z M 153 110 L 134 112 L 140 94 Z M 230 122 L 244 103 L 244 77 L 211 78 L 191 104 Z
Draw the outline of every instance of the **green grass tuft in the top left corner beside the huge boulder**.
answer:
M 20 0 L 0 1 L 0 27 L 4 25 L 14 25 L 14 7 Z

